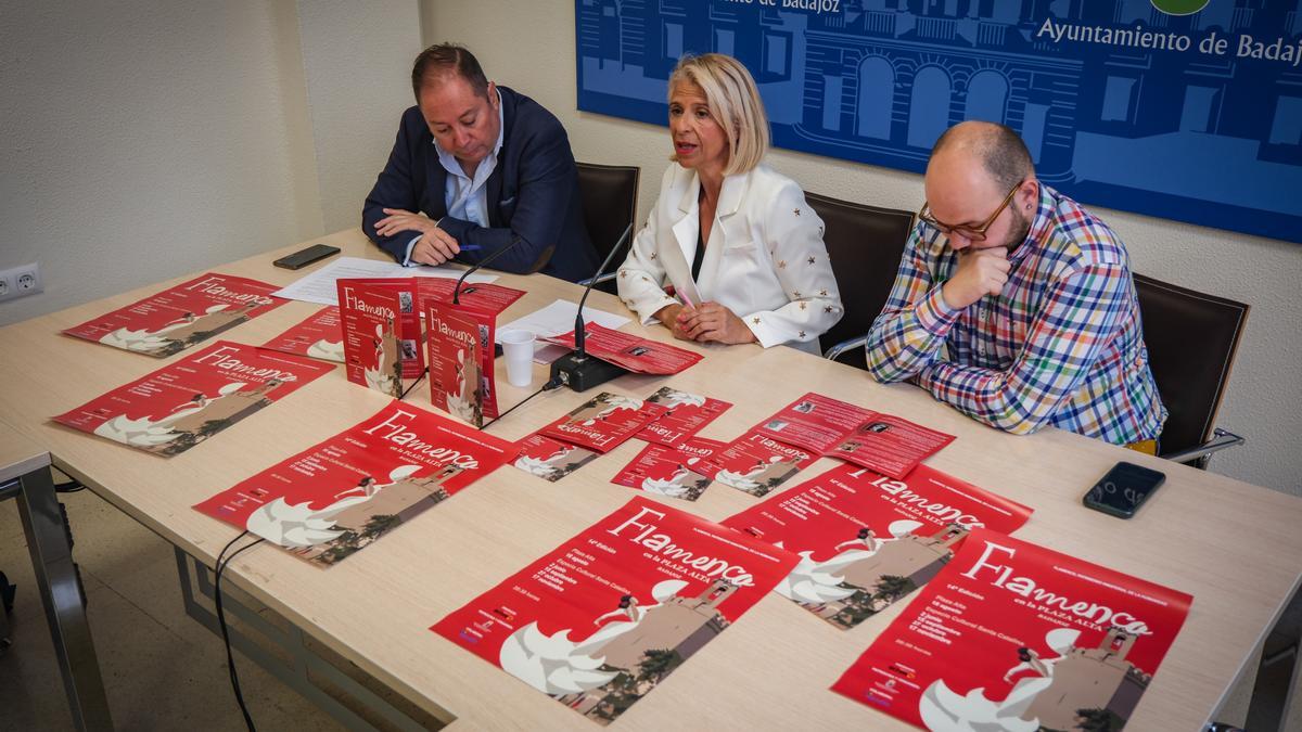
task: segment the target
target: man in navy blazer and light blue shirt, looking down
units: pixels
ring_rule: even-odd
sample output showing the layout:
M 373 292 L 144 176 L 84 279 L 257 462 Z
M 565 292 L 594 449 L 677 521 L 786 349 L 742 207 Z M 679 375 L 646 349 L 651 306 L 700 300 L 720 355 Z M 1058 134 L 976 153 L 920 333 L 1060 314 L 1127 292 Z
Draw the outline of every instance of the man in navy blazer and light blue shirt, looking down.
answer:
M 389 162 L 366 197 L 362 229 L 404 264 L 449 259 L 578 281 L 595 274 L 578 171 L 560 121 L 491 83 L 470 51 L 437 44 L 411 69 Z M 516 244 L 518 242 L 518 244 Z

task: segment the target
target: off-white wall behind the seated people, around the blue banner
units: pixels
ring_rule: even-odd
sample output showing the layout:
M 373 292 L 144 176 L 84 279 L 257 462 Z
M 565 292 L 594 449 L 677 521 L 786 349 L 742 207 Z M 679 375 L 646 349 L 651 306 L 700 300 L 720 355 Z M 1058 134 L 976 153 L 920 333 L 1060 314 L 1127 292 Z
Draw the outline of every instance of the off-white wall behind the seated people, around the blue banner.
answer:
M 665 128 L 575 111 L 574 3 L 423 0 L 426 43 L 469 46 L 491 79 L 549 108 L 574 156 L 642 167 L 646 216 L 669 155 Z M 807 190 L 879 206 L 921 206 L 922 177 L 776 150 L 769 163 Z M 1124 162 L 1118 162 L 1124 164 Z M 1095 208 L 1126 241 L 1135 271 L 1253 306 L 1219 425 L 1249 438 L 1212 470 L 1302 495 L 1302 341 L 1294 320 L 1302 245 Z

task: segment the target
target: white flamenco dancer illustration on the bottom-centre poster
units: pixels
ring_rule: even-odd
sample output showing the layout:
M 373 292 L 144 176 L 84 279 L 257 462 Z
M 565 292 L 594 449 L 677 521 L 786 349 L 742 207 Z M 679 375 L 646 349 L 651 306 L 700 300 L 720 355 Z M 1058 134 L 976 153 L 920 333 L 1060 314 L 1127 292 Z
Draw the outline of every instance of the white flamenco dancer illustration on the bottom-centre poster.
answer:
M 572 628 L 547 636 L 538 629 L 538 623 L 530 623 L 510 634 L 499 653 L 501 668 L 539 692 L 562 696 L 591 692 L 616 676 L 618 671 L 602 669 L 605 656 L 602 649 L 615 638 L 635 629 L 648 612 L 669 602 L 687 584 L 682 580 L 665 580 L 651 589 L 656 604 L 630 604 L 628 608 L 607 613 L 624 616 L 626 620 L 612 620 L 582 641 L 570 641 Z M 605 617 L 605 616 L 603 616 Z M 602 619 L 598 619 L 599 621 Z

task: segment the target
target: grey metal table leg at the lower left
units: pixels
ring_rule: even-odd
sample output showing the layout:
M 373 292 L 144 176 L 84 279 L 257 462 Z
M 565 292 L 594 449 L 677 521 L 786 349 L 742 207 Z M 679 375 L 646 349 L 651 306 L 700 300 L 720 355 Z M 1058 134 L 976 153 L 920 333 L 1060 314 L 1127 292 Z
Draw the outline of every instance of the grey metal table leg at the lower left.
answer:
M 18 516 L 27 535 L 31 565 L 46 606 L 49 634 L 55 641 L 59 671 L 77 729 L 112 729 L 108 697 L 95 658 L 95 643 L 82 607 L 72 547 L 59 512 L 59 498 L 49 468 L 18 477 Z

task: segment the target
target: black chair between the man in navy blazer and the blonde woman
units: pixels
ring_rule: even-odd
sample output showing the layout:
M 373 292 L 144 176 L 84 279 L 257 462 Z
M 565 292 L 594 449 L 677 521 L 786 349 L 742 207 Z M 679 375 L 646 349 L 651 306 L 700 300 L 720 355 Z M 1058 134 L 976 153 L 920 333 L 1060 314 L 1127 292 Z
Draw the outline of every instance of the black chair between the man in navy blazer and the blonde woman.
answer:
M 620 234 L 633 223 L 638 215 L 638 178 L 642 168 L 635 165 L 598 165 L 595 163 L 578 163 L 578 191 L 583 203 L 583 224 L 587 227 L 587 236 L 596 247 L 598 259 L 605 259 L 611 249 L 618 242 Z M 624 245 L 624 253 L 616 254 L 612 260 L 615 266 L 624 262 L 629 246 L 633 244 L 633 227 L 629 241 Z M 587 280 L 581 281 L 586 285 Z M 616 293 L 615 272 L 607 272 L 596 279 L 595 289 Z

